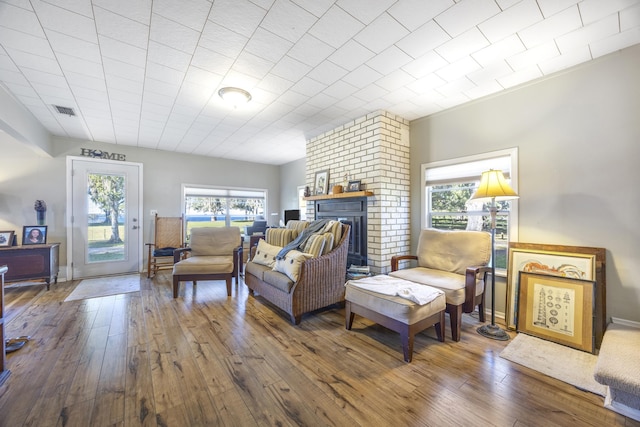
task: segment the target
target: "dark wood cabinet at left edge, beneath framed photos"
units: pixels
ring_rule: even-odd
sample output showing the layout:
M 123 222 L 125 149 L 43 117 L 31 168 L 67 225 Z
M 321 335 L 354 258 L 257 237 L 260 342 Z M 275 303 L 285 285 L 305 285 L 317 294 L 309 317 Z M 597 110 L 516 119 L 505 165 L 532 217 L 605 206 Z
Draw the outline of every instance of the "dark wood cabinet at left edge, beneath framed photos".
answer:
M 6 265 L 5 282 L 44 280 L 47 289 L 58 282 L 60 243 L 0 248 L 0 265 Z

